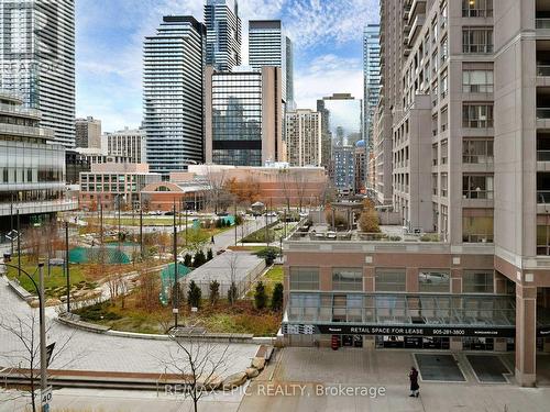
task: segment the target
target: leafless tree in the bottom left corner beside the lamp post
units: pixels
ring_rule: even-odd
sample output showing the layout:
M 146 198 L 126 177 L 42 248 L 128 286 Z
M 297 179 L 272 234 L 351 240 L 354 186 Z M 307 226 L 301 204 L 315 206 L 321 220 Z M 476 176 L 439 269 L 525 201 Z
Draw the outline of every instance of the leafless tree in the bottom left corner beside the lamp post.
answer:
M 52 323 L 46 324 L 46 336 L 50 337 L 53 334 L 52 332 Z M 11 400 L 30 398 L 32 410 L 36 412 L 36 389 L 40 381 L 40 325 L 35 312 L 23 316 L 18 316 L 13 313 L 10 313 L 9 316 L 3 316 L 0 320 L 0 334 L 2 336 L 0 358 L 6 361 L 4 365 L 9 365 L 9 367 L 15 369 L 21 377 L 30 382 L 29 389 L 25 390 L 23 389 L 24 387 L 19 388 Z M 59 355 L 67 352 L 67 347 L 74 335 L 75 331 L 66 335 L 56 334 L 55 347 L 50 357 L 50 364 L 57 361 Z M 74 357 L 70 357 L 68 360 L 57 361 L 56 369 L 66 368 L 81 356 L 84 354 L 74 354 Z

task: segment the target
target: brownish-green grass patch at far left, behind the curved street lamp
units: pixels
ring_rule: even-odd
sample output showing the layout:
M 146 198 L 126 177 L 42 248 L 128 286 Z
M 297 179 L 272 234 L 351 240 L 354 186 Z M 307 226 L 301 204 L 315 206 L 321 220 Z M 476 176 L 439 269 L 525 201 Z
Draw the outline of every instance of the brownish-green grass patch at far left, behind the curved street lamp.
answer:
M 18 258 L 12 258 L 10 265 L 18 266 Z M 38 285 L 38 271 L 36 270 L 36 264 L 30 263 L 26 256 L 22 256 L 21 258 L 21 269 L 25 270 L 29 275 L 33 275 L 33 279 Z M 65 286 L 67 285 L 64 268 L 61 266 L 52 266 L 50 269 L 50 276 L 47 275 L 47 266 L 44 266 L 44 289 L 46 292 L 46 297 L 65 294 Z M 8 268 L 8 278 L 16 279 L 18 278 L 18 269 L 16 268 Z M 31 293 L 36 293 L 32 281 L 22 272 L 21 278 L 19 279 L 21 286 L 30 291 Z M 84 270 L 81 266 L 72 265 L 70 266 L 70 285 L 84 285 L 87 279 L 85 278 Z M 90 285 L 91 286 L 91 285 Z M 63 293 L 55 293 L 54 289 L 63 288 Z

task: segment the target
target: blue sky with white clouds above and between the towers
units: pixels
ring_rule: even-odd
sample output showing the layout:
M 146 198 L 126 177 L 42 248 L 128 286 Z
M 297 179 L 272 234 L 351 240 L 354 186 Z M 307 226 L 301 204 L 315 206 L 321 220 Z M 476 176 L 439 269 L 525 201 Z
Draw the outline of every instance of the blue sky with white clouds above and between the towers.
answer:
M 106 132 L 142 121 L 143 38 L 162 16 L 202 21 L 204 0 L 78 0 L 76 2 L 77 116 L 92 115 Z M 295 46 L 298 108 L 333 92 L 363 94 L 363 26 L 378 21 L 377 0 L 239 0 L 243 63 L 249 20 L 280 19 Z

